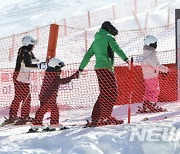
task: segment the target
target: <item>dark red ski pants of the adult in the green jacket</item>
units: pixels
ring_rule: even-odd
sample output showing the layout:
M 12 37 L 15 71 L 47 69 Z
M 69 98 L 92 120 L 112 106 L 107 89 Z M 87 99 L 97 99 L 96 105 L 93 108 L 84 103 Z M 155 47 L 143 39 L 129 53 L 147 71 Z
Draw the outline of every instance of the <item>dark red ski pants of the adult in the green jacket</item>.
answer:
M 106 119 L 111 116 L 113 106 L 117 100 L 117 85 L 114 73 L 107 69 L 96 70 L 100 95 L 94 105 L 92 121 Z

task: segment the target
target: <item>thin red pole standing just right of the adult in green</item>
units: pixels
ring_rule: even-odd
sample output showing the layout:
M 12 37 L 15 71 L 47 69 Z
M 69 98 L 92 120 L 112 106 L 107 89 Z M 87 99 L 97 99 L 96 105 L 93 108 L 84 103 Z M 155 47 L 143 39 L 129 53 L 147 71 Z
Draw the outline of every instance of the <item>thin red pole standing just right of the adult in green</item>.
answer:
M 133 80 L 133 57 L 131 57 L 129 67 L 129 104 L 128 104 L 128 124 L 131 122 L 131 102 L 132 102 L 132 80 Z

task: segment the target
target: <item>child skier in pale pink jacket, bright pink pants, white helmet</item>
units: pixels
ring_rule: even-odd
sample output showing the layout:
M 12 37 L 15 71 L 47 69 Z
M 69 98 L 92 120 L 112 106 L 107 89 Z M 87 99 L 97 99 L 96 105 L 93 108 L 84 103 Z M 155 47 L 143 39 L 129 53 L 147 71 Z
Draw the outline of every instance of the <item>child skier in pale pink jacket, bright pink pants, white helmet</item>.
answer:
M 163 109 L 157 106 L 158 95 L 160 93 L 158 74 L 167 74 L 169 69 L 161 65 L 157 58 L 157 42 L 158 39 L 153 35 L 147 35 L 144 39 L 144 47 L 142 54 L 142 71 L 145 83 L 144 102 L 142 108 L 138 112 L 163 112 Z

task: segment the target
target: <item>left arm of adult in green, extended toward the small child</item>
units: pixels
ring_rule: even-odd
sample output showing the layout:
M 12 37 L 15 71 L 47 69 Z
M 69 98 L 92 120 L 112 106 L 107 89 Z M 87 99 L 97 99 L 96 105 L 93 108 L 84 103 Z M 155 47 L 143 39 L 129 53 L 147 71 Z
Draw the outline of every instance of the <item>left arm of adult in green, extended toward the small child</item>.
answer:
M 94 55 L 94 51 L 93 51 L 92 45 L 91 45 L 91 47 L 88 49 L 88 51 L 84 55 L 84 58 L 79 66 L 79 70 L 82 71 L 86 67 L 86 65 L 89 63 L 89 61 L 93 55 Z

